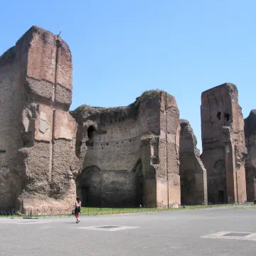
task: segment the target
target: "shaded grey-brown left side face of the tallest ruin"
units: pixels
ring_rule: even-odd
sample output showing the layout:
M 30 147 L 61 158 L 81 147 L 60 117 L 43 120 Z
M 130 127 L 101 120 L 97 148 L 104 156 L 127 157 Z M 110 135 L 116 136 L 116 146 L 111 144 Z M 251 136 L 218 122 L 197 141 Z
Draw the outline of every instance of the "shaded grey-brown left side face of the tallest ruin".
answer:
M 21 143 L 21 57 L 11 48 L 0 57 L 0 209 L 15 208 L 21 190 L 17 156 Z

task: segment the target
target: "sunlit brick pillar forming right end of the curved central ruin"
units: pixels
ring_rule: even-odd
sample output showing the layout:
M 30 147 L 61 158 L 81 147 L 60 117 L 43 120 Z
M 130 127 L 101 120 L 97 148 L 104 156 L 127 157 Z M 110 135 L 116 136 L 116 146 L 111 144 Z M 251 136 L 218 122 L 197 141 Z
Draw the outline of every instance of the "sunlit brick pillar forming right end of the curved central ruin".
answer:
M 181 205 L 181 184 L 179 176 L 179 112 L 176 100 L 166 92 L 159 92 L 154 98 L 155 120 L 149 117 L 145 123 L 147 132 L 142 140 L 142 164 L 145 177 L 144 202 L 151 207 L 173 207 Z M 152 104 L 147 102 L 147 108 Z M 141 106 L 140 119 L 146 114 Z M 147 110 L 148 111 L 148 110 Z M 151 127 L 154 124 L 154 127 Z M 142 126 L 142 130 L 144 126 Z M 154 132 L 151 132 L 154 131 Z

